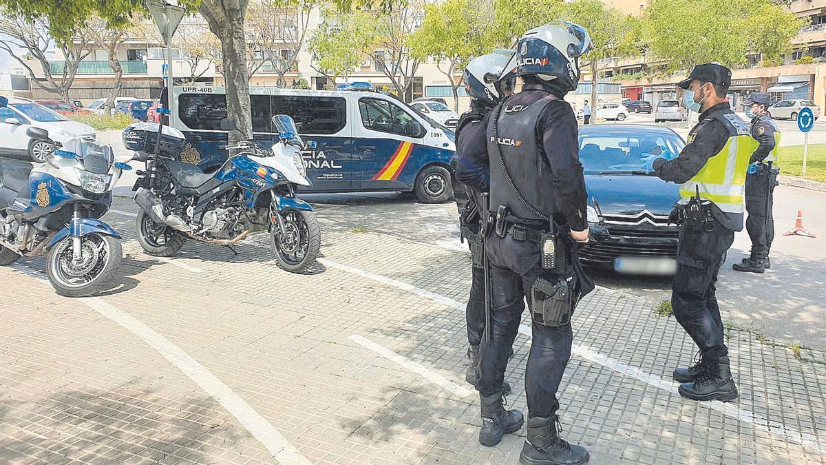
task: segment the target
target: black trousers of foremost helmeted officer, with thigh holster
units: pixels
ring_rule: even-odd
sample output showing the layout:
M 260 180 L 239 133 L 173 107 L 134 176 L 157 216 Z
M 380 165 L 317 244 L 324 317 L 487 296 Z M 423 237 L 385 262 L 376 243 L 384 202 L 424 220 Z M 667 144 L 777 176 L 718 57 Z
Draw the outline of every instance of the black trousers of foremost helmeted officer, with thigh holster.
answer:
M 503 239 L 491 237 L 487 242 L 493 282 L 490 343 L 482 340 L 477 391 L 493 395 L 501 390 L 508 362 L 508 349 L 513 345 L 524 299 L 538 276 L 553 280 L 542 269 L 539 244 L 516 242 L 510 235 Z M 532 325 L 533 340 L 525 371 L 525 391 L 529 416 L 553 415 L 559 408 L 557 391 L 568 359 L 571 357 L 573 333 L 571 325 L 548 328 Z

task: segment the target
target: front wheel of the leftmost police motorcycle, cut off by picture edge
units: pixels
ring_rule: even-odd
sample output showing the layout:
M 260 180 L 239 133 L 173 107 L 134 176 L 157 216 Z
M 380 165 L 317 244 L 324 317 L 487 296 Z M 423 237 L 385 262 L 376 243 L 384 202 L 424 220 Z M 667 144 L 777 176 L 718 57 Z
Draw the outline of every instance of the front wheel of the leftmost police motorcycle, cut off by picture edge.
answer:
M 80 238 L 81 256 L 73 259 L 73 238 L 55 244 L 46 260 L 49 281 L 59 295 L 88 297 L 112 285 L 123 252 L 116 237 L 92 233 Z

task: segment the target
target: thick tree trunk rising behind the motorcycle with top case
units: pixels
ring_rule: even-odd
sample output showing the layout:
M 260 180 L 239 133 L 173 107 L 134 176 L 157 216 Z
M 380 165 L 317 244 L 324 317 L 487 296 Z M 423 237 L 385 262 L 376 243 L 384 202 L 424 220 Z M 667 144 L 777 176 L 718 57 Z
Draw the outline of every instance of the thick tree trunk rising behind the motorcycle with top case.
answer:
M 230 145 L 253 137 L 244 37 L 244 14 L 248 4 L 249 0 L 203 0 L 199 8 L 209 23 L 210 31 L 221 40 L 227 116 L 235 122 L 235 128 L 229 134 Z

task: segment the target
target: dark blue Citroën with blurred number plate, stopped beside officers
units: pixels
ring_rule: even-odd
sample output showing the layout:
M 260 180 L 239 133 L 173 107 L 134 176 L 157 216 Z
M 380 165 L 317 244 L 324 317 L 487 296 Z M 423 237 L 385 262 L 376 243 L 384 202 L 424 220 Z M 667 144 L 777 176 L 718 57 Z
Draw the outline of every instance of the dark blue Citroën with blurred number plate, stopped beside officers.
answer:
M 668 215 L 680 186 L 647 175 L 643 160 L 654 151 L 678 154 L 685 141 L 667 127 L 627 124 L 583 126 L 579 138 L 591 227 L 582 262 L 620 273 L 672 274 L 679 229 Z

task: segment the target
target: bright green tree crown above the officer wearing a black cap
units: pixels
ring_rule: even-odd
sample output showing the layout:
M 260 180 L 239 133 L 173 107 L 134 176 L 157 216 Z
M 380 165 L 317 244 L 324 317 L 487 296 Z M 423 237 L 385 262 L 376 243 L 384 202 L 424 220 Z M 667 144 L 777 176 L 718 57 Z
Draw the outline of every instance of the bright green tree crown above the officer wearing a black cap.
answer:
M 653 0 L 642 31 L 670 70 L 716 61 L 745 65 L 747 51 L 774 60 L 790 50 L 803 22 L 771 0 Z

